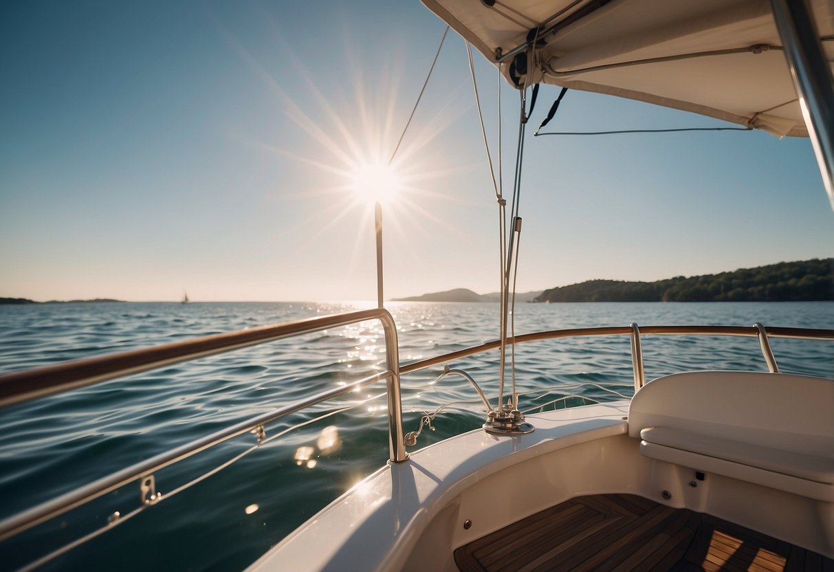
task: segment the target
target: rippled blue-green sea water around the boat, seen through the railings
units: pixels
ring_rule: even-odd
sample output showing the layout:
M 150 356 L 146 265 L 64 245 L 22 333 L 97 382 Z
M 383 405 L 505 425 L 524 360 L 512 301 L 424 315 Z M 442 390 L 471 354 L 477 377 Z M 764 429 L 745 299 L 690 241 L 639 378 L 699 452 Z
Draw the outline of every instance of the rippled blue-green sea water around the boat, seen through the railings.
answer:
M 108 354 L 352 309 L 350 304 L 60 304 L 0 306 L 0 371 Z M 497 304 L 390 304 L 403 362 L 496 339 Z M 517 334 L 586 326 L 660 324 L 834 329 L 834 303 L 520 304 Z M 834 376 L 834 345 L 775 339 L 784 372 Z M 645 337 L 646 379 L 688 369 L 766 369 L 756 339 Z M 631 395 L 625 337 L 550 340 L 516 349 L 522 408 L 552 409 Z M 280 340 L 191 364 L 0 410 L 0 519 L 304 396 L 383 369 L 378 324 Z M 497 353 L 461 359 L 490 399 Z M 405 430 L 445 404 L 418 448 L 483 422 L 463 379 L 431 382 L 437 367 L 403 378 Z M 509 374 L 508 374 L 509 379 Z M 606 391 L 609 390 L 609 391 Z M 342 410 L 344 409 L 344 410 Z M 329 416 L 322 418 L 324 415 Z M 234 464 L 178 488 L 251 449 L 232 439 L 158 471 L 163 501 L 52 559 L 44 569 L 242 569 L 388 455 L 384 387 L 269 424 L 265 442 Z M 322 418 L 317 421 L 314 419 Z M 305 424 L 303 427 L 297 425 Z M 140 506 L 138 483 L 0 544 L 16 569 Z

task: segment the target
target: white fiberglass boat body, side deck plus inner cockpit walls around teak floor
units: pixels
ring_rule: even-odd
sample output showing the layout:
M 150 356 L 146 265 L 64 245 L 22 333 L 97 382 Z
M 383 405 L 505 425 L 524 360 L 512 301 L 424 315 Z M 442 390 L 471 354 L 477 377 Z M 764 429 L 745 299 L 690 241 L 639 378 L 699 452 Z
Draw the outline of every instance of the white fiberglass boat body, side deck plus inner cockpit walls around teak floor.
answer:
M 629 436 L 629 408 L 620 401 L 550 411 L 528 416 L 532 434 L 475 430 L 422 449 L 369 476 L 250 569 L 456 570 L 456 548 L 566 499 L 606 493 L 712 514 L 834 554 L 831 499 L 722 474 L 696 481 L 697 468 L 641 454 L 641 439 Z

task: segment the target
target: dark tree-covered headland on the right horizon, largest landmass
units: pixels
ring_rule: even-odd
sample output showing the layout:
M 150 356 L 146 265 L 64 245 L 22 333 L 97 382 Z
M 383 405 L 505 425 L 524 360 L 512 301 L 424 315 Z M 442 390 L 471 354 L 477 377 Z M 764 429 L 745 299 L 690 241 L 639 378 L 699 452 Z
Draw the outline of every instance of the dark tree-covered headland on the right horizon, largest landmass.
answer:
M 589 280 L 535 302 L 790 302 L 834 300 L 834 258 L 812 258 L 657 282 Z

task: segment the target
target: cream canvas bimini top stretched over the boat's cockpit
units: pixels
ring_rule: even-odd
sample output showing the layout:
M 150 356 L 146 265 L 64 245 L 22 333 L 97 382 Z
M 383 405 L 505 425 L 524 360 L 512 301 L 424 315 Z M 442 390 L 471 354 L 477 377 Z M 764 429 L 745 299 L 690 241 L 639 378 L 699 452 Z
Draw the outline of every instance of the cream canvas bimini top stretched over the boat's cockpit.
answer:
M 552 83 L 808 135 L 768 0 L 423 2 L 516 86 Z M 810 4 L 834 62 L 834 3 Z

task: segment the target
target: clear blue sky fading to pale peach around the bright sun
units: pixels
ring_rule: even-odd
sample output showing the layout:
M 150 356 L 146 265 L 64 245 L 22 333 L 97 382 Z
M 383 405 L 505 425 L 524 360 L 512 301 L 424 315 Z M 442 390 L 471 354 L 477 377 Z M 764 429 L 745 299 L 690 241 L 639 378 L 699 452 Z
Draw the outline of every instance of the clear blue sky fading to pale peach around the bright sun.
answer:
M 419 2 L 0 6 L 0 296 L 374 299 L 372 207 L 445 24 Z M 475 53 L 497 154 L 497 80 Z M 558 93 L 543 87 L 531 126 Z M 518 96 L 502 87 L 504 171 Z M 716 126 L 569 92 L 560 130 Z M 530 134 L 532 129 L 530 130 Z M 498 290 L 497 208 L 451 33 L 395 160 L 385 296 Z M 529 138 L 521 292 L 834 255 L 806 139 Z

